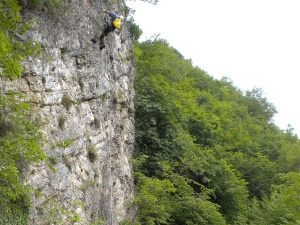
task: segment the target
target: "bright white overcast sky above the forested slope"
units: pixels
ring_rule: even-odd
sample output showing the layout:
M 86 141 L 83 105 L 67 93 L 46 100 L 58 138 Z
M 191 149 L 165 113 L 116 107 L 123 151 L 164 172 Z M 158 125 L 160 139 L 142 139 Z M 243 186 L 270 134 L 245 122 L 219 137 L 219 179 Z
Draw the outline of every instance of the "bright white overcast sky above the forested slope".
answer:
M 300 0 L 139 0 L 126 4 L 142 40 L 166 39 L 195 66 L 239 89 L 262 88 L 275 123 L 300 136 Z

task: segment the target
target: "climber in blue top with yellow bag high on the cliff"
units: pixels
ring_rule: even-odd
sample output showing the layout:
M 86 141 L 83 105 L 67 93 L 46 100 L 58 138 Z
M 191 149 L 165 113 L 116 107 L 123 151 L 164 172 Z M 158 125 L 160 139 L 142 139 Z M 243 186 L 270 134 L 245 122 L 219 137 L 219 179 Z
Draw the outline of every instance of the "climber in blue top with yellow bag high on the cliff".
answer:
M 100 35 L 100 50 L 105 48 L 104 44 L 104 37 L 107 37 L 107 35 L 114 31 L 115 29 L 121 28 L 121 20 L 124 19 L 123 16 L 116 15 L 108 10 L 103 10 L 103 12 L 107 13 L 111 17 L 110 22 L 106 22 L 106 27 L 104 32 Z

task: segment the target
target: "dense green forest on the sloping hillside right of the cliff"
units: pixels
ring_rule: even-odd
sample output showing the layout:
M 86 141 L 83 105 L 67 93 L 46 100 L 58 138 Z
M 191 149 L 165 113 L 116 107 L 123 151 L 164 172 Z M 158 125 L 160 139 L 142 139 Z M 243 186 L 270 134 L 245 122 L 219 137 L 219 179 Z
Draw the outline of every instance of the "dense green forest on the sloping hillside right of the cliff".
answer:
M 165 40 L 136 43 L 138 222 L 300 224 L 300 141 L 261 89 L 243 93 Z

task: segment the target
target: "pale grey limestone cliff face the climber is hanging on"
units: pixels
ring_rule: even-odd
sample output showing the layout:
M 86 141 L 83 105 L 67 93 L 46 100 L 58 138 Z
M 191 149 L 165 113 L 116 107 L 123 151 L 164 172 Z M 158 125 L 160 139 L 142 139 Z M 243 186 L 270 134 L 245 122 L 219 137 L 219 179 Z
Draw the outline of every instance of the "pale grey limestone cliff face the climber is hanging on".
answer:
M 91 38 L 108 19 L 102 8 L 124 15 L 124 2 L 61 2 L 38 9 L 24 3 L 25 20 L 36 21 L 26 38 L 44 53 L 24 63 L 22 79 L 0 83 L 26 93 L 46 122 L 45 151 L 56 172 L 46 163 L 28 168 L 26 180 L 37 190 L 30 224 L 119 224 L 133 196 L 133 47 L 126 22 L 102 51 Z

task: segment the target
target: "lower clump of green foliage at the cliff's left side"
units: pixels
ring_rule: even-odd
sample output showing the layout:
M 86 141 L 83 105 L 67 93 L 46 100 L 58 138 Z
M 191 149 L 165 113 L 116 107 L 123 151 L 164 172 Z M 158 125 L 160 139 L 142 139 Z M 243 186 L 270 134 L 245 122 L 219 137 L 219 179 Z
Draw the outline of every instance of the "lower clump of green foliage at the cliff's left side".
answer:
M 22 95 L 0 95 L 0 223 L 18 218 L 25 224 L 30 207 L 30 187 L 23 184 L 22 168 L 45 159 L 43 135 L 38 120 L 31 118 L 30 105 Z M 22 222 L 23 221 L 23 222 Z

